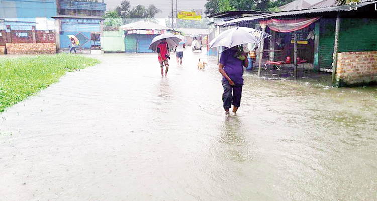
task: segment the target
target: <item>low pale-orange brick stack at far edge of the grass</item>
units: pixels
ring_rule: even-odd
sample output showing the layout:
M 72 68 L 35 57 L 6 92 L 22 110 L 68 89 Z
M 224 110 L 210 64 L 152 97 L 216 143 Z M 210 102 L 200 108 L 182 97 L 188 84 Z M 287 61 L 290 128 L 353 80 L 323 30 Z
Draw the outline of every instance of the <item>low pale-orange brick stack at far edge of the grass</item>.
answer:
M 55 54 L 55 43 L 7 43 L 7 54 Z

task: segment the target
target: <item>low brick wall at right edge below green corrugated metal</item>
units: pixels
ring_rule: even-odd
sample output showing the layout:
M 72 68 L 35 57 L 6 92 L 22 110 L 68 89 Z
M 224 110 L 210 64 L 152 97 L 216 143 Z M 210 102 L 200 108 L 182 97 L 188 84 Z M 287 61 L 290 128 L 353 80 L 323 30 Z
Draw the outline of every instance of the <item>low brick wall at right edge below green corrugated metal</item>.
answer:
M 338 53 L 336 81 L 338 86 L 377 82 L 377 51 Z

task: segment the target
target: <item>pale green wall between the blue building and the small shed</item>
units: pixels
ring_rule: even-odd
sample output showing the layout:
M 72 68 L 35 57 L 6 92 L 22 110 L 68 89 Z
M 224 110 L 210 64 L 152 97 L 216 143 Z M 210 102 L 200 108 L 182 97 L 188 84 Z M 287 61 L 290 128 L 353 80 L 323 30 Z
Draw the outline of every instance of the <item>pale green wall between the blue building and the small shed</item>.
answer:
M 123 37 L 124 31 L 109 32 L 104 31 L 101 39 L 102 47 L 105 52 L 124 52 L 125 43 Z

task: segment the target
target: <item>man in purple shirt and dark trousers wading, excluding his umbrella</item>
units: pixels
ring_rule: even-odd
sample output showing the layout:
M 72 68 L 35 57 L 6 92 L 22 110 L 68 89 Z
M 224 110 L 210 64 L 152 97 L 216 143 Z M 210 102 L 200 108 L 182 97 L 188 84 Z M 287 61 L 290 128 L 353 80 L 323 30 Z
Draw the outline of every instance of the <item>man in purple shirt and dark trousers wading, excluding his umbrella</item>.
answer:
M 222 52 L 219 61 L 219 71 L 223 78 L 221 83 L 224 88 L 223 107 L 226 114 L 233 105 L 234 114 L 241 104 L 241 94 L 243 86 L 243 67 L 247 67 L 247 54 L 240 51 L 237 46 L 226 49 Z

